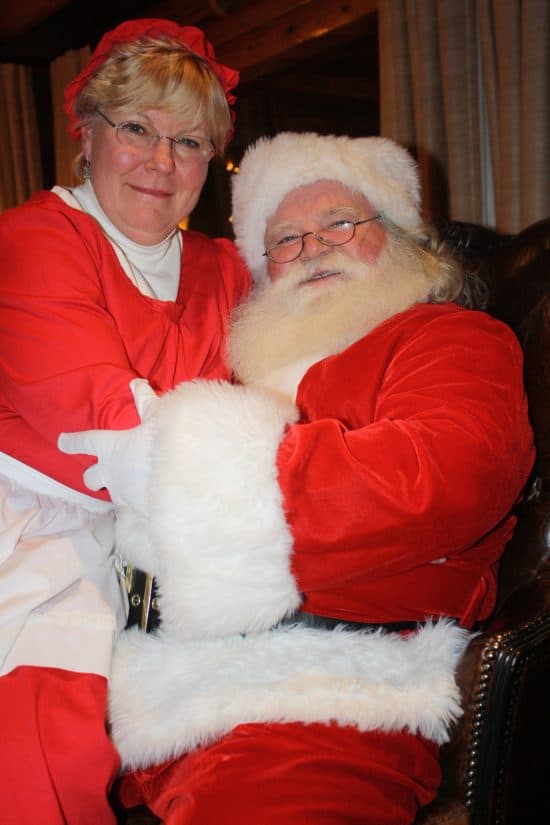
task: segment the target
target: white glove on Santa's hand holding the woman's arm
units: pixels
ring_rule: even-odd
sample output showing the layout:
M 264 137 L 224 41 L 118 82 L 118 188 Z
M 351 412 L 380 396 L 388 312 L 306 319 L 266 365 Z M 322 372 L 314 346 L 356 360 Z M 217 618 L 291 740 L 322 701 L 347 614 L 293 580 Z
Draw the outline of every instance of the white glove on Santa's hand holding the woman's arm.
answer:
M 113 504 L 131 507 L 148 517 L 148 487 L 153 446 L 153 414 L 158 396 L 149 382 L 130 382 L 141 424 L 128 430 L 82 430 L 61 433 L 57 446 L 63 453 L 97 456 L 97 464 L 83 475 L 89 490 L 106 487 Z

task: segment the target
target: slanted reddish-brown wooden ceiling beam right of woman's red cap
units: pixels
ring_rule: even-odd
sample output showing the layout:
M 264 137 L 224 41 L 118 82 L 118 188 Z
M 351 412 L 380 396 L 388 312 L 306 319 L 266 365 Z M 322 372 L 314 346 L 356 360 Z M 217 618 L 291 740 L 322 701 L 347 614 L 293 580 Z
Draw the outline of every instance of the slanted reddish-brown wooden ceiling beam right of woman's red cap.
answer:
M 264 13 L 268 6 L 272 13 L 276 8 L 275 3 L 264 2 L 258 6 Z M 260 11 L 249 10 L 246 21 L 243 12 L 240 25 L 236 20 L 232 23 L 233 31 L 239 33 L 223 42 L 218 43 L 214 36 L 216 33 L 221 36 L 219 24 L 216 28 L 214 24 L 205 28 L 219 60 L 239 69 L 246 81 L 272 71 L 285 60 L 309 57 L 325 48 L 327 41 L 334 44 L 352 39 L 357 36 L 361 24 L 372 21 L 377 9 L 377 0 L 305 0 L 293 4 L 293 8 L 283 14 L 277 11 L 276 17 L 263 19 L 263 22 L 259 22 Z M 256 25 L 248 28 L 253 21 Z

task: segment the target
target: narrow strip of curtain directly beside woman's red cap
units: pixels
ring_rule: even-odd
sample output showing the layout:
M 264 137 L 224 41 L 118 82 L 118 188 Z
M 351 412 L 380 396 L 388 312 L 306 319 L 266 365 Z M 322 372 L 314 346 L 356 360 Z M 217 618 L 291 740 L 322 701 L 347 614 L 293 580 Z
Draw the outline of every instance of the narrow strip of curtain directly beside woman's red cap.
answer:
M 50 65 L 50 85 L 53 107 L 53 133 L 55 152 L 55 181 L 60 186 L 74 186 L 81 183 L 73 166 L 80 145 L 72 139 L 67 129 L 67 116 L 63 111 L 65 86 L 86 66 L 90 58 L 90 48 L 84 46 L 53 60 Z

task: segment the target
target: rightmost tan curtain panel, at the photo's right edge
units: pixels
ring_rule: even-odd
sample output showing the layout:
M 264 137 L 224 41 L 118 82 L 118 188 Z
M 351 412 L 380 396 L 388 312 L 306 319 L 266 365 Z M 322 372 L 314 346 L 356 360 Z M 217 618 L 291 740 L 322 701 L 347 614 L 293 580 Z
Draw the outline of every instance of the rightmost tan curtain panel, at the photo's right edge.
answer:
M 550 3 L 478 3 L 498 222 L 550 216 Z

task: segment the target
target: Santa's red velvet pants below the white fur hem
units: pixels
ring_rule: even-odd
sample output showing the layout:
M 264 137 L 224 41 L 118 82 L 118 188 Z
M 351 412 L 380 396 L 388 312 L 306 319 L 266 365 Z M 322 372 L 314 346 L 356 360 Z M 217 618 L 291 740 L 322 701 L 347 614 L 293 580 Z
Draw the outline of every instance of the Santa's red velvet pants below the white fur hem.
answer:
M 166 825 L 410 825 L 439 782 L 438 749 L 420 737 L 253 724 L 127 774 L 119 792 Z

